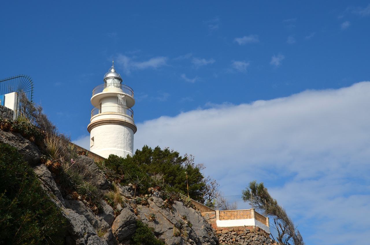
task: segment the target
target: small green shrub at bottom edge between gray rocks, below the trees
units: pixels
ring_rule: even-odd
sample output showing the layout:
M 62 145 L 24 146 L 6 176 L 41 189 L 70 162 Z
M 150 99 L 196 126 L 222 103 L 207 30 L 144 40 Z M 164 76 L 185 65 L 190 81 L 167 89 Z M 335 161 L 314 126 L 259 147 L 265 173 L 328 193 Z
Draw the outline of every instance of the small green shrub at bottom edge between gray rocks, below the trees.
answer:
M 165 245 L 153 233 L 154 229 L 144 224 L 141 220 L 136 221 L 136 232 L 132 236 L 134 245 Z

